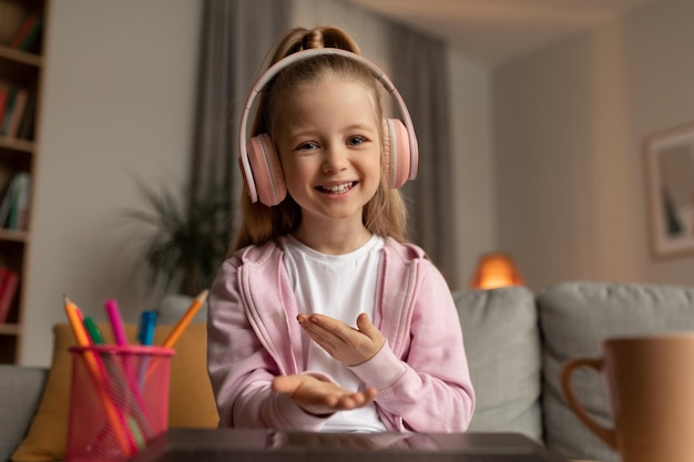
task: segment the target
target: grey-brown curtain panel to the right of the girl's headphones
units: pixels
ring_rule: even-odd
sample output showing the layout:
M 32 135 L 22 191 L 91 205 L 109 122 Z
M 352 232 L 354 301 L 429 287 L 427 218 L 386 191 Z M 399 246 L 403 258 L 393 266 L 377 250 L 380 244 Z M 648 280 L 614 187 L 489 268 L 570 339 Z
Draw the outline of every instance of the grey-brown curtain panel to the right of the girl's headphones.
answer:
M 408 203 L 410 238 L 439 267 L 449 285 L 460 279 L 456 263 L 450 192 L 451 124 L 448 52 L 442 41 L 399 24 L 390 25 L 391 75 L 412 116 L 419 141 L 419 174 L 402 193 Z

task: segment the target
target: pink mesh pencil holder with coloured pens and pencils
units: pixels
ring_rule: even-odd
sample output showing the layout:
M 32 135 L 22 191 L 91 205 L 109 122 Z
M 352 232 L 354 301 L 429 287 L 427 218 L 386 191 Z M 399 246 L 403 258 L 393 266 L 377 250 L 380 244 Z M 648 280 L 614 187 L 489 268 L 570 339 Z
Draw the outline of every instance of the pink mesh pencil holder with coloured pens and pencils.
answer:
M 169 427 L 174 350 L 73 347 L 65 461 L 125 461 Z

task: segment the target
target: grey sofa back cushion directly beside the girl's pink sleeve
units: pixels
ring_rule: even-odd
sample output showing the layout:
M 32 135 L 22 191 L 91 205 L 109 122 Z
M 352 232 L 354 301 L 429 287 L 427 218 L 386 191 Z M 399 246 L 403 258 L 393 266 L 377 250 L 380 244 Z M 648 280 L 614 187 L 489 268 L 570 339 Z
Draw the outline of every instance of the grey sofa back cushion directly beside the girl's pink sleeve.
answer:
M 534 296 L 525 287 L 453 292 L 477 404 L 469 431 L 542 440 L 541 353 Z

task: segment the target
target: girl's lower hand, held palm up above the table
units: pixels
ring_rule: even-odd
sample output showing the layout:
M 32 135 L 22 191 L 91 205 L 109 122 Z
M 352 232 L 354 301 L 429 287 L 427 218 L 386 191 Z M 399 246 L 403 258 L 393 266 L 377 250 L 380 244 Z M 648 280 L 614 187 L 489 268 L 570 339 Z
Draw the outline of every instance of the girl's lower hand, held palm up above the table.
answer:
M 288 394 L 302 409 L 314 415 L 328 415 L 369 405 L 377 393 L 371 387 L 364 391 L 348 391 L 307 373 L 276 377 L 273 390 Z

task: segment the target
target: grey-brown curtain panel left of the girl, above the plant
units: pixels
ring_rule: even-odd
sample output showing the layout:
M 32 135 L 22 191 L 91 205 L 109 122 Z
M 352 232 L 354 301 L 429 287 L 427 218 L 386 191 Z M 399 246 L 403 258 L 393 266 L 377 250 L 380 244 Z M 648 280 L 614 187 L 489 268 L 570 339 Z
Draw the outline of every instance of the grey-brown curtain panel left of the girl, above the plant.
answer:
M 220 226 L 232 233 L 238 223 L 243 181 L 238 172 L 238 123 L 242 105 L 263 58 L 289 23 L 283 0 L 205 0 L 191 191 L 200 198 L 224 194 L 232 216 Z

